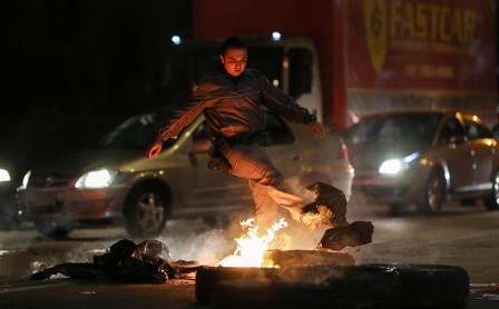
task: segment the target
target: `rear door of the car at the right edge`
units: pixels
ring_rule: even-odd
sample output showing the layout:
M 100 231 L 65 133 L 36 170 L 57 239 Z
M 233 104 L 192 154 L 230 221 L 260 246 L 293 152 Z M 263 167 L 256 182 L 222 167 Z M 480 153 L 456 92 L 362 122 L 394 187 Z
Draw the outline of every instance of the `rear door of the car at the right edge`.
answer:
M 467 116 L 463 120 L 468 142 L 473 152 L 473 190 L 490 189 L 497 141 L 493 133 L 482 123 L 474 121 L 472 117 Z

